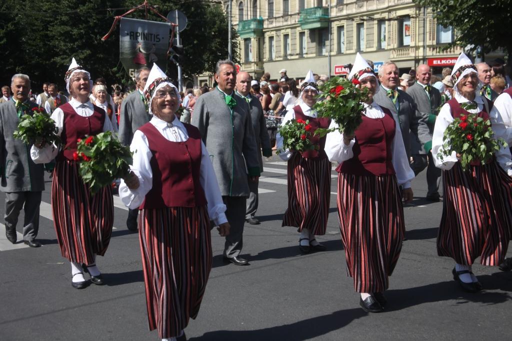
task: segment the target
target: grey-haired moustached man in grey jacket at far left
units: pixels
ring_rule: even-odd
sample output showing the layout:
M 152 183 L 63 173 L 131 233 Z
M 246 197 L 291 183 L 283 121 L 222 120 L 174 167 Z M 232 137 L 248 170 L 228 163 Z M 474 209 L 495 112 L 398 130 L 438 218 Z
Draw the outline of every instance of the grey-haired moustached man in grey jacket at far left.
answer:
M 16 225 L 19 212 L 24 209 L 23 241 L 30 247 L 39 247 L 35 240 L 39 230 L 39 204 L 45 190 L 44 166 L 36 165 L 30 157 L 31 145 L 13 138 L 19 118 L 32 115 L 36 104 L 29 101 L 30 78 L 17 74 L 12 77 L 12 100 L 0 104 L 0 167 L 5 192 L 5 234 L 11 243 L 17 239 Z

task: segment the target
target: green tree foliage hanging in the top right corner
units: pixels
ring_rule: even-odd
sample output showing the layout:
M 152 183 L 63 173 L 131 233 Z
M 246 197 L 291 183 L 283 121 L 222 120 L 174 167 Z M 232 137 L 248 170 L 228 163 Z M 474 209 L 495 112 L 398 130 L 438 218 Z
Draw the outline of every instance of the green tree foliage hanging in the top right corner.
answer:
M 512 0 L 414 0 L 420 6 L 433 10 L 437 22 L 455 29 L 455 40 L 450 46 L 477 46 L 484 53 L 503 48 L 512 61 Z

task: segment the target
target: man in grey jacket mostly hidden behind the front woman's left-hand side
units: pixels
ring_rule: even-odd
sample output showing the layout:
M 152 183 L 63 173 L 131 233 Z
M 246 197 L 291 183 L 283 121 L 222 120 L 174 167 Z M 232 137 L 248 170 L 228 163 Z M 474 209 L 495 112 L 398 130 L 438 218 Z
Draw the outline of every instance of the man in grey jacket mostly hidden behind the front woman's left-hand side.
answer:
M 135 71 L 137 88 L 121 104 L 118 137 L 119 141 L 125 146 L 130 146 L 134 132 L 151 119 L 147 110 L 146 100 L 142 94 L 142 89 L 146 86 L 147 76 L 149 75 L 150 69 L 146 66 Z M 128 218 L 126 219 L 126 228 L 128 230 L 137 232 L 138 215 L 139 210 L 128 210 Z

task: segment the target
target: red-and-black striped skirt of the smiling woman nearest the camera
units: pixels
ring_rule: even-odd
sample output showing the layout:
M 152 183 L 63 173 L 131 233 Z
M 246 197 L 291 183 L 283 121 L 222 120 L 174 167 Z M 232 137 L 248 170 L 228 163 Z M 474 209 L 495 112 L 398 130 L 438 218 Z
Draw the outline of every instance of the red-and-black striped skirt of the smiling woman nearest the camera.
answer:
M 139 237 L 148 325 L 177 336 L 196 318 L 211 270 L 206 207 L 144 209 Z

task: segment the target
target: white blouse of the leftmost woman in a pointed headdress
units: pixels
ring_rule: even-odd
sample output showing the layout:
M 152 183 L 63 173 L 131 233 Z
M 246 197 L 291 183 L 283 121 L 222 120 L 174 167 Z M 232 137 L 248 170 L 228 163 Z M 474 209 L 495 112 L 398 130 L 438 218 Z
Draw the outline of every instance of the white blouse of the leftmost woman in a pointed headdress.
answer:
M 80 103 L 76 99 L 72 98 L 69 102 L 75 112 L 81 117 L 90 117 L 94 113 L 93 104 L 89 101 L 86 103 Z M 105 118 L 108 116 L 105 115 Z M 61 108 L 56 108 L 51 116 L 51 119 L 55 121 L 55 125 L 59 129 L 58 135 L 62 134 L 62 129 L 64 128 L 64 111 Z M 105 123 L 103 123 L 103 132 L 112 131 L 114 132 L 114 128 L 112 127 L 112 122 L 110 120 L 105 119 Z M 36 164 L 47 164 L 51 162 L 59 153 L 59 148 L 56 148 L 55 145 L 45 145 L 41 149 L 36 146 L 32 146 L 30 149 L 30 156 L 32 160 Z

